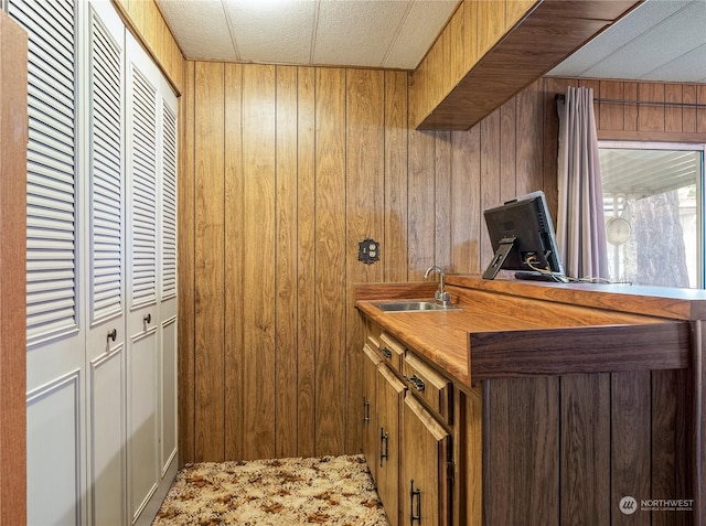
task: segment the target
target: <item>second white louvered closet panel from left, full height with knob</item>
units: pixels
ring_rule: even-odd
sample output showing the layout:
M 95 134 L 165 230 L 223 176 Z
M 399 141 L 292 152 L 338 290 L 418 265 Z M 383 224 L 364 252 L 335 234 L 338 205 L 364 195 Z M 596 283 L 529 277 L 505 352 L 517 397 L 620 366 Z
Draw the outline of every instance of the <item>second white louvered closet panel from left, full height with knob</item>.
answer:
M 107 1 L 88 12 L 86 181 L 89 524 L 122 525 L 126 491 L 125 30 Z

